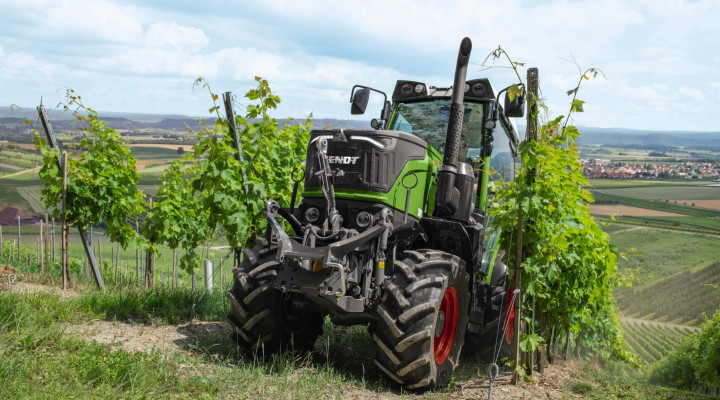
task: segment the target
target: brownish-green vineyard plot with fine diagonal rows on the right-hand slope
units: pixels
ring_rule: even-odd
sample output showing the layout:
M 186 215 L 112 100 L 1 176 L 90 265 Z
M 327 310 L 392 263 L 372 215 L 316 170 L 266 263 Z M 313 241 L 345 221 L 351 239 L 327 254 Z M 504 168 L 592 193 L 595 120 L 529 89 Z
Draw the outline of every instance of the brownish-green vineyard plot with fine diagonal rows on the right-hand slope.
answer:
M 720 308 L 714 288 L 719 285 L 720 262 L 714 262 L 640 287 L 620 288 L 615 294 L 628 317 L 699 325 Z

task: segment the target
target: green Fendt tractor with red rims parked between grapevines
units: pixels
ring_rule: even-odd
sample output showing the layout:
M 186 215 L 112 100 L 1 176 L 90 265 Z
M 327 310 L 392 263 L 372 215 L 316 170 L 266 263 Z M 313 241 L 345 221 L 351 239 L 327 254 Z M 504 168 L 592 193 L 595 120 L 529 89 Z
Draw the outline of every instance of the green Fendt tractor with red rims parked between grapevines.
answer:
M 471 48 L 451 88 L 399 81 L 391 103 L 353 87 L 353 114 L 385 95 L 374 129 L 311 132 L 301 203 L 268 201 L 265 237 L 233 270 L 242 347 L 311 349 L 326 315 L 367 324 L 378 368 L 408 389 L 447 383 L 466 339 L 494 348 L 512 290 L 489 181 L 514 176 L 524 98 L 504 90 L 501 106 L 487 79 L 466 81 Z

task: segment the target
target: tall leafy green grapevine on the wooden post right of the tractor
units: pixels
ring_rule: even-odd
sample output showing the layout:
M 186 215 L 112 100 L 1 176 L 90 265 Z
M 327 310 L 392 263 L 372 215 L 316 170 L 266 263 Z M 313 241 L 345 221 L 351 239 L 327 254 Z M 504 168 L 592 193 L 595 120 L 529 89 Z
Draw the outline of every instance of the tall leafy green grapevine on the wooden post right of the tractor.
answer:
M 579 84 L 568 94 L 576 95 L 578 88 Z M 545 108 L 539 99 L 538 103 Z M 581 106 L 573 96 L 570 114 L 582 111 Z M 582 327 L 586 348 L 626 359 L 611 297 L 617 284 L 616 249 L 590 216 L 593 199 L 584 188 L 588 183 L 575 144 L 580 133 L 568 126 L 569 118 L 545 123 L 537 140 L 520 144 L 524 168 L 515 182 L 496 185 L 500 201 L 492 204 L 490 214 L 502 227 L 506 262 L 514 266 L 518 213 L 522 213 L 522 289 L 535 297 L 536 312 L 547 313 L 549 326 L 558 332 L 577 332 Z M 531 340 L 532 335 L 523 341 L 527 348 L 539 343 Z

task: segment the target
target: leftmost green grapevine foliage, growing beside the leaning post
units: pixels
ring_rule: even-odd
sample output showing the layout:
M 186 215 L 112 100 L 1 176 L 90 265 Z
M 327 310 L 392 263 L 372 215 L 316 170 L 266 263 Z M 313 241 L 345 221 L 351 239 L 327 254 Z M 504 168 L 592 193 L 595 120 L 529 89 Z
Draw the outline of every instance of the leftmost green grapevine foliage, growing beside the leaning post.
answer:
M 115 129 L 98 118 L 95 110 L 83 105 L 72 89 L 66 92 L 65 110 L 71 111 L 81 124 L 77 134 L 79 151 L 68 155 L 67 220 L 70 226 L 87 228 L 105 223 L 106 234 L 127 247 L 141 241 L 127 218 L 145 211 L 145 200 L 137 187 L 135 157 L 125 140 Z M 59 215 L 62 201 L 62 171 L 57 150 L 47 146 L 36 132 L 35 147 L 43 156 L 39 176 L 43 181 L 42 198 L 48 208 Z

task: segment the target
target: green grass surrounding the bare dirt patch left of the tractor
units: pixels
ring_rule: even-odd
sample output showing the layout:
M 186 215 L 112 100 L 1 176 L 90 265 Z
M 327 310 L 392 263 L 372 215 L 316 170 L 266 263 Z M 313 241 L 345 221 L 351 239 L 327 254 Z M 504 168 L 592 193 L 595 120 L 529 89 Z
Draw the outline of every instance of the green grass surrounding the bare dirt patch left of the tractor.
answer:
M 396 391 L 372 364 L 372 341 L 362 327 L 328 322 L 314 353 L 267 357 L 241 354 L 230 340 L 198 340 L 189 352 L 130 353 L 66 333 L 68 323 L 97 318 L 184 322 L 187 316 L 176 310 L 187 311 L 196 294 L 109 290 L 61 300 L 0 291 L 0 398 L 337 398 Z M 225 320 L 225 303 L 220 291 L 206 296 L 208 307 L 198 301 L 197 318 Z

